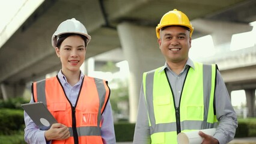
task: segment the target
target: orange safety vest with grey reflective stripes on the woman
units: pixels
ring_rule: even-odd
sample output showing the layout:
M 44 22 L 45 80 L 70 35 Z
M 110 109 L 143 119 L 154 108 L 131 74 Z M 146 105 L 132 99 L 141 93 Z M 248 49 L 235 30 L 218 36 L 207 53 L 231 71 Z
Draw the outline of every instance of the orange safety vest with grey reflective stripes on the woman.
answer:
M 52 143 L 103 143 L 101 119 L 109 100 L 110 89 L 105 80 L 84 76 L 78 100 L 72 106 L 58 77 L 32 83 L 34 101 L 42 101 L 55 119 L 69 127 L 70 137 Z

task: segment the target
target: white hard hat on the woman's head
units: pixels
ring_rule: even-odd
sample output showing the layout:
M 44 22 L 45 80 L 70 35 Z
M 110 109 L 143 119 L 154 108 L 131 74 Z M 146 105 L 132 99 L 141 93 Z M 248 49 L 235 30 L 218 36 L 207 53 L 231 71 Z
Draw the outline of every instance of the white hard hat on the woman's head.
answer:
M 58 40 L 58 36 L 62 34 L 81 34 L 88 38 L 86 43 L 88 44 L 91 40 L 91 36 L 88 35 L 87 29 L 85 26 L 76 20 L 75 18 L 65 20 L 61 24 L 59 24 L 57 30 L 52 35 L 52 46 L 56 47 L 56 43 Z

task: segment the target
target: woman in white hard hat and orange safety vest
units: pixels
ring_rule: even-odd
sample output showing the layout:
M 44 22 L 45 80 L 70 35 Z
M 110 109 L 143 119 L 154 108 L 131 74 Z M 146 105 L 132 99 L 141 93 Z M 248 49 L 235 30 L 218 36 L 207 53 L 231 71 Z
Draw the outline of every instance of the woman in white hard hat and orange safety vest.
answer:
M 115 143 L 108 83 L 80 70 L 90 40 L 74 18 L 56 29 L 52 46 L 62 68 L 56 77 L 32 83 L 30 103 L 42 101 L 58 123 L 40 130 L 25 112 L 27 143 Z

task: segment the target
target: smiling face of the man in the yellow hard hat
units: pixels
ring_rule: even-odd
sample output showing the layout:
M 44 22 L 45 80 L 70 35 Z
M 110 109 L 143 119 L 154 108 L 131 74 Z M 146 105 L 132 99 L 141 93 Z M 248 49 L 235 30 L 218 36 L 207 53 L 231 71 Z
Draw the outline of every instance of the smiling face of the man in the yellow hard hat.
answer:
M 191 47 L 189 31 L 181 26 L 170 26 L 160 31 L 158 40 L 161 50 L 167 62 L 186 62 Z

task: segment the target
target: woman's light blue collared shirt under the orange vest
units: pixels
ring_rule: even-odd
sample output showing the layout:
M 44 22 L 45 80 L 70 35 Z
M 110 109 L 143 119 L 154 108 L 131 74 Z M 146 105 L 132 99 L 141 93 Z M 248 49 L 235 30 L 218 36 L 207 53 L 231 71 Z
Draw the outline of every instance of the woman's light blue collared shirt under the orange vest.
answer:
M 84 74 L 81 72 L 80 80 L 74 86 L 71 86 L 68 82 L 66 77 L 61 73 L 61 70 L 58 73 L 59 81 L 64 88 L 64 91 L 69 98 L 72 106 L 75 106 L 76 100 L 78 98 L 78 93 L 82 84 L 82 79 L 84 78 Z M 34 103 L 33 99 L 31 98 L 30 103 Z M 25 142 L 27 143 L 46 143 L 44 132 L 43 130 L 39 130 L 37 125 L 32 121 L 32 119 L 28 116 L 26 112 L 24 112 L 24 120 L 25 120 Z M 102 140 L 103 143 L 116 143 L 115 142 L 115 131 L 114 131 L 114 121 L 112 116 L 112 108 L 111 103 L 108 101 L 106 104 L 105 111 L 102 114 Z M 51 143 L 51 142 L 47 142 Z

